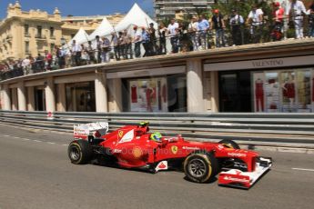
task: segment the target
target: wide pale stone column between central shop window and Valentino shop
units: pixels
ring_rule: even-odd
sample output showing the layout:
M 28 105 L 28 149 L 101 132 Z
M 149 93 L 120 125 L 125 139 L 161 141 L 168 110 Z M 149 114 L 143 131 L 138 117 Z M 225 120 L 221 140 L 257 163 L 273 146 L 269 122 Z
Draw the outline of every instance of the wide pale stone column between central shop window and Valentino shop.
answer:
M 187 112 L 203 112 L 202 62 L 199 59 L 187 60 Z

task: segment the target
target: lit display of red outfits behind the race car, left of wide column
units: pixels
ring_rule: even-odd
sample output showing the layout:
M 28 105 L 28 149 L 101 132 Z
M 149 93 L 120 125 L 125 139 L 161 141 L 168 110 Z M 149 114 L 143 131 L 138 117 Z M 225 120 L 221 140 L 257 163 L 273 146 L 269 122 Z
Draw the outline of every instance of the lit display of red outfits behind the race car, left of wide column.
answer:
M 167 112 L 167 79 L 129 81 L 132 112 Z

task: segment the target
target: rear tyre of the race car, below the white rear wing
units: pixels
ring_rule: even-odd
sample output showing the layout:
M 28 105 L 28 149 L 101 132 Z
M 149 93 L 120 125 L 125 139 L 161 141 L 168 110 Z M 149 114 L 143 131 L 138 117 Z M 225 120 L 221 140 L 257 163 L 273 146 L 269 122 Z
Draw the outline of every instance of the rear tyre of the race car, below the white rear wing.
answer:
M 72 164 L 86 164 L 92 158 L 93 149 L 87 141 L 76 140 L 68 145 L 67 154 Z

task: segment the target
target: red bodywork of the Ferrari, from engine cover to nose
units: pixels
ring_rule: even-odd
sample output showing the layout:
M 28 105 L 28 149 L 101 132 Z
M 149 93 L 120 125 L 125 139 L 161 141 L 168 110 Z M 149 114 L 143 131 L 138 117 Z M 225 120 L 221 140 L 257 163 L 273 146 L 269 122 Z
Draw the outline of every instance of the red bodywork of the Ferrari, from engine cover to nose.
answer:
M 238 158 L 254 170 L 256 152 L 232 149 L 218 143 L 191 142 L 177 137 L 163 137 L 160 143 L 149 139 L 147 126 L 127 125 L 101 136 L 99 145 L 109 150 L 122 167 L 143 167 L 169 159 L 186 158 L 195 151 L 213 152 L 216 158 Z

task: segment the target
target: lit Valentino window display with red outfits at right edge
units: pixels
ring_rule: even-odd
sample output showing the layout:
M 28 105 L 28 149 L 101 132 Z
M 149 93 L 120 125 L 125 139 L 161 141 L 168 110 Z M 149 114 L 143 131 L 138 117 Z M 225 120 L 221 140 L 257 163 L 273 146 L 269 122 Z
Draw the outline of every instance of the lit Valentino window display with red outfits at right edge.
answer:
M 252 79 L 255 112 L 314 112 L 312 69 L 256 72 Z

